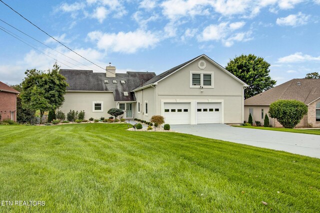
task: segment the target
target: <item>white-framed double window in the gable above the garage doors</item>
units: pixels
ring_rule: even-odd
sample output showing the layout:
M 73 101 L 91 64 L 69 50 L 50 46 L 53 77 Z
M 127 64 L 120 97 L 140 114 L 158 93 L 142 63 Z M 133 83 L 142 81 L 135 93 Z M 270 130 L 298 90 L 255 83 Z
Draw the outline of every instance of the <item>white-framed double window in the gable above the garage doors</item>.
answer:
M 213 88 L 213 72 L 190 71 L 190 88 Z

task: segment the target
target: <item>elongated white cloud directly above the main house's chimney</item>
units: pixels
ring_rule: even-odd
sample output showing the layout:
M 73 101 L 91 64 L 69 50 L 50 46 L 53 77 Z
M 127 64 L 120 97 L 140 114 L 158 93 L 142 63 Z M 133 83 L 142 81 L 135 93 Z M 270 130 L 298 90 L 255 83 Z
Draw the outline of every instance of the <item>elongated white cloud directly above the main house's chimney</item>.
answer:
M 152 48 L 160 41 L 156 33 L 141 29 L 116 34 L 92 31 L 88 33 L 88 37 L 92 41 L 96 41 L 96 45 L 100 49 L 121 53 L 134 53 L 139 49 Z

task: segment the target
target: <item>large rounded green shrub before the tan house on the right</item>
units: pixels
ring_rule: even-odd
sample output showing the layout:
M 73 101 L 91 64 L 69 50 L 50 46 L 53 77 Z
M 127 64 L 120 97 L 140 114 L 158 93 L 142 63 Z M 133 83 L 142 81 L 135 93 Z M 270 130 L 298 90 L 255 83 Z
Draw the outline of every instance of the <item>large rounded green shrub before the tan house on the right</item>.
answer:
M 307 112 L 307 106 L 301 101 L 277 100 L 270 104 L 268 114 L 271 118 L 275 118 L 284 128 L 293 128 Z

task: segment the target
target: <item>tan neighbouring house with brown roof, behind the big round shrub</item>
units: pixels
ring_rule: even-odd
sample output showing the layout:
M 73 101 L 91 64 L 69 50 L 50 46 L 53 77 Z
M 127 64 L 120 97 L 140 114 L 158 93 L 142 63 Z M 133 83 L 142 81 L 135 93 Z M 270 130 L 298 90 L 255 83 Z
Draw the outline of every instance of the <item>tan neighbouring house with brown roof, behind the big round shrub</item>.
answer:
M 269 111 L 271 103 L 277 100 L 298 100 L 308 107 L 305 115 L 296 127 L 320 127 L 320 79 L 292 79 L 274 88 L 244 100 L 244 120 L 249 113 L 252 120 L 263 124 L 265 113 Z M 275 119 L 270 119 L 273 127 L 282 127 Z

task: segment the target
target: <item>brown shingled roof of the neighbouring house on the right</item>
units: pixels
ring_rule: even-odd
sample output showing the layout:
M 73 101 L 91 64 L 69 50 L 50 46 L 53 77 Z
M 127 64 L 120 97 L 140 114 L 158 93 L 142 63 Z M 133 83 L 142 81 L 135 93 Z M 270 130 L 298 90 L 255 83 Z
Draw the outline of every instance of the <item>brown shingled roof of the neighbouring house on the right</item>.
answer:
M 277 100 L 298 100 L 306 105 L 320 98 L 320 79 L 292 79 L 244 100 L 244 105 L 270 105 Z

